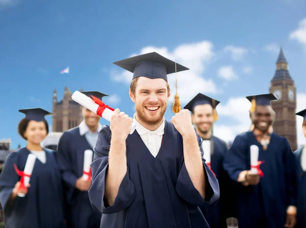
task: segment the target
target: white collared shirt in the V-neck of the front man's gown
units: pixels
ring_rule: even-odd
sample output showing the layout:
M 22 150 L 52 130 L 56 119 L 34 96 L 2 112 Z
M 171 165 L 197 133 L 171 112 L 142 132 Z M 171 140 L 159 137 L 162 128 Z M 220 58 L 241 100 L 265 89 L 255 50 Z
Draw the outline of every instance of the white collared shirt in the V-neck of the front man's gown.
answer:
M 155 131 L 150 131 L 143 127 L 136 119 L 134 119 L 133 122 L 136 124 L 136 131 L 140 135 L 141 139 L 143 140 L 143 143 L 148 148 L 148 150 L 151 152 L 151 154 L 156 157 L 162 144 L 163 134 L 165 130 L 165 119 L 163 120 L 163 123 L 161 126 L 159 126 L 158 129 Z

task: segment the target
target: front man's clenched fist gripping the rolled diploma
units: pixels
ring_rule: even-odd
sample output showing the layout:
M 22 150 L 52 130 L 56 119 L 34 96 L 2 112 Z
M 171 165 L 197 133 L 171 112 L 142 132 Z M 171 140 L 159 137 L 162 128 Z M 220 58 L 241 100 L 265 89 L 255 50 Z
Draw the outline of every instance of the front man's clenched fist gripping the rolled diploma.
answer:
M 132 128 L 133 119 L 127 116 L 123 111 L 120 112 L 116 108 L 111 118 L 110 128 L 112 131 L 112 137 L 119 137 L 126 139 L 129 136 Z

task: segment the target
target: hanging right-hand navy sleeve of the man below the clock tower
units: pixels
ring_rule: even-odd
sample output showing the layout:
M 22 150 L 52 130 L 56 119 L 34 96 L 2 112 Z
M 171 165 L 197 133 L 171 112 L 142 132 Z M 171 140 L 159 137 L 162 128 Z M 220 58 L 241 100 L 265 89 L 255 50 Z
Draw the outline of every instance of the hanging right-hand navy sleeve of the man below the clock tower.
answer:
M 286 195 L 287 206 L 296 206 L 296 165 L 294 154 L 291 150 L 288 140 L 286 141 L 285 151 L 285 172 L 286 172 Z

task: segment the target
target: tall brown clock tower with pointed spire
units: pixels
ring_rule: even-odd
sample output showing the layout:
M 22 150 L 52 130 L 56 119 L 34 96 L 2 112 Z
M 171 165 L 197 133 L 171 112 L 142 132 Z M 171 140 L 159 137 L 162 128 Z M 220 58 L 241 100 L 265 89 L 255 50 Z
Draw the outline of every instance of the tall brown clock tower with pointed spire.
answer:
M 277 101 L 271 105 L 276 112 L 273 130 L 276 134 L 288 139 L 292 151 L 297 149 L 296 137 L 296 88 L 288 71 L 288 63 L 283 53 L 279 51 L 276 61 L 276 71 L 270 82 L 270 93 L 273 93 Z

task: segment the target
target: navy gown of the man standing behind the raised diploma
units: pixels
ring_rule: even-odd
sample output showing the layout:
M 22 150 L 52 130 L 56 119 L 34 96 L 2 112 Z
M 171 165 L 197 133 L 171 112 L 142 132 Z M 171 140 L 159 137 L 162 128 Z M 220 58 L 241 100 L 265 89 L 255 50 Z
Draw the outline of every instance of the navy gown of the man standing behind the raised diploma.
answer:
M 76 127 L 62 134 L 57 153 L 70 208 L 69 226 L 95 228 L 99 227 L 101 214 L 91 207 L 88 191 L 80 191 L 74 186 L 77 179 L 83 176 L 85 150 L 93 148 L 85 136 L 80 135 L 80 128 Z

